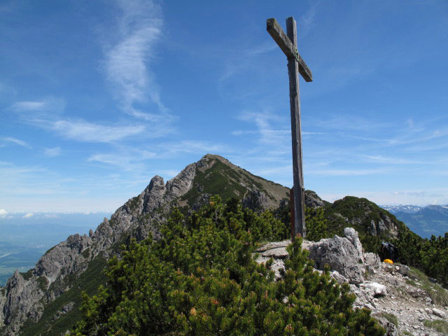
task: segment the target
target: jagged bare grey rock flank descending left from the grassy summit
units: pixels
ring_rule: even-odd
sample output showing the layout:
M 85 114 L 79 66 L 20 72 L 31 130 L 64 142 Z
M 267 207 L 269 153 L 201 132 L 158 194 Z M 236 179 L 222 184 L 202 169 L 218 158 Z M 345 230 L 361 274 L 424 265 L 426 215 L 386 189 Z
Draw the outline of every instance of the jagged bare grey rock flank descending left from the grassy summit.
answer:
M 88 262 L 99 253 L 107 258 L 113 253 L 111 247 L 122 243 L 123 237 L 144 239 L 150 234 L 155 239 L 160 237 L 158 225 L 154 223 L 165 221 L 172 200 L 186 193 L 191 186 L 194 171 L 195 164 L 189 165 L 166 186 L 160 176 L 154 176 L 139 196 L 126 202 L 110 220 L 104 218 L 94 232 L 89 232 L 88 236 L 72 235 L 51 248 L 27 273 L 27 279 L 15 272 L 0 301 L 1 322 L 7 326 L 3 335 L 16 335 L 28 318 L 38 321 L 41 314 L 36 312 L 69 289 L 69 284 L 64 283 L 66 276 L 84 272 Z

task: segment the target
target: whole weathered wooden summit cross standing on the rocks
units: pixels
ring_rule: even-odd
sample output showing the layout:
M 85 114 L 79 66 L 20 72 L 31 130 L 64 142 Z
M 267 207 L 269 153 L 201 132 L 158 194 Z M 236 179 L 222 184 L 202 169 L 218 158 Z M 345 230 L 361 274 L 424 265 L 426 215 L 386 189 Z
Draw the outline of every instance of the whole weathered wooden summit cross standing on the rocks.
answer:
M 291 135 L 293 141 L 293 179 L 294 188 L 290 193 L 291 201 L 291 239 L 300 234 L 305 237 L 305 215 L 304 215 L 304 188 L 302 167 L 302 132 L 300 128 L 300 93 L 299 76 L 311 82 L 313 74 L 308 69 L 302 57 L 297 51 L 297 27 L 293 17 L 286 19 L 286 35 L 281 29 L 279 22 L 272 19 L 266 21 L 267 32 L 274 38 L 280 49 L 288 58 L 289 74 L 289 102 L 291 109 Z M 292 205 L 294 203 L 294 206 Z M 293 211 L 294 207 L 294 211 Z

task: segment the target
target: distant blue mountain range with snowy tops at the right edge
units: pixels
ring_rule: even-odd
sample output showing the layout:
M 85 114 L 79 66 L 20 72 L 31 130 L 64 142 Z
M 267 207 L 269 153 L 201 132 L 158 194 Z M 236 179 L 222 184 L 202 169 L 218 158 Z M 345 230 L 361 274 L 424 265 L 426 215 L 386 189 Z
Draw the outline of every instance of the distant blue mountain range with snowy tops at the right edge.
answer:
M 448 232 L 448 204 L 427 205 L 381 205 L 381 208 L 394 214 L 400 221 L 406 223 L 409 229 L 423 238 L 431 235 L 443 236 Z

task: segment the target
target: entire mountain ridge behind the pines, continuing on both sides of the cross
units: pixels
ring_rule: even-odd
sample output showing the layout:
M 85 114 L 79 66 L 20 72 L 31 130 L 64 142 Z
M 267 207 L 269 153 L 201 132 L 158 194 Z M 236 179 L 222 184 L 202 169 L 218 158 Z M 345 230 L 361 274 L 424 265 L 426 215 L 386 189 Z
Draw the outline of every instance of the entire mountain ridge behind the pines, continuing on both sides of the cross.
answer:
M 0 290 L 0 335 L 60 335 L 76 321 L 78 292 L 85 290 L 92 295 L 104 283 L 102 267 L 118 253 L 121 244 L 131 237 L 142 240 L 152 235 L 159 239 L 160 225 L 173 207 L 185 213 L 195 211 L 214 194 L 224 200 L 236 197 L 255 211 L 288 212 L 289 188 L 255 176 L 219 155 L 204 155 L 166 183 L 156 175 L 141 194 L 125 202 L 110 219 L 104 218 L 89 235 L 69 236 L 50 248 L 36 267 L 26 273 L 16 271 L 10 277 Z M 371 232 L 374 228 L 374 232 L 384 234 L 390 228 L 396 230 L 393 215 L 384 210 L 381 216 L 376 204 L 355 199 L 344 197 L 331 204 L 330 217 L 340 230 L 346 226 Z M 311 190 L 305 192 L 305 204 L 313 209 L 330 207 Z M 344 212 L 338 204 L 353 209 Z

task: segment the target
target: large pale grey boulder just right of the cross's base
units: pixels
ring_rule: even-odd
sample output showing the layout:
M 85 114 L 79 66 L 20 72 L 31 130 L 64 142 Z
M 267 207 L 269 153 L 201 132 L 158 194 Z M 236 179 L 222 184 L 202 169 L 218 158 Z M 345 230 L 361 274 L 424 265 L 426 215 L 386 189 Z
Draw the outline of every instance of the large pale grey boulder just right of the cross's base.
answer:
M 344 230 L 346 237 L 335 235 L 334 238 L 321 239 L 309 246 L 309 258 L 314 260 L 316 269 L 324 269 L 329 265 L 332 270 L 349 280 L 349 283 L 362 283 L 364 281 L 364 267 L 362 246 L 358 232 L 353 228 Z

